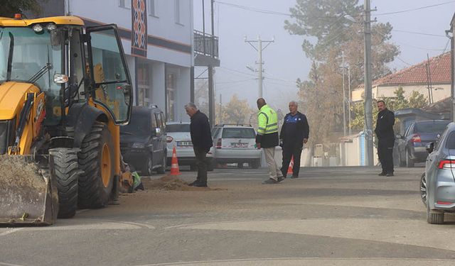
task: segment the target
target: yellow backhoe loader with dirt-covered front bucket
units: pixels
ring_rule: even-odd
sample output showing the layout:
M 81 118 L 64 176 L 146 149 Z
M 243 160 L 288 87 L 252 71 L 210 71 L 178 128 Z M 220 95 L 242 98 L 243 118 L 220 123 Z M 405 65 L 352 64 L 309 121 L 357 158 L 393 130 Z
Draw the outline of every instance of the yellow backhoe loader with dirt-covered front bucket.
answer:
M 0 224 L 50 225 L 131 190 L 131 84 L 117 26 L 0 18 Z

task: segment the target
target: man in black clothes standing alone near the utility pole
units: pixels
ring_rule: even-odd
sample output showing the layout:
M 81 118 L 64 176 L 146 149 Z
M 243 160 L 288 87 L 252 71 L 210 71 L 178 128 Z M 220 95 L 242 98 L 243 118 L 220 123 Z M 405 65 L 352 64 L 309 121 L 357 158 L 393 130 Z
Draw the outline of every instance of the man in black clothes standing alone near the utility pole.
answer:
M 385 101 L 378 101 L 378 118 L 376 119 L 375 133 L 378 137 L 378 156 L 381 162 L 382 172 L 380 176 L 393 176 L 393 145 L 395 144 L 395 115 L 387 109 Z

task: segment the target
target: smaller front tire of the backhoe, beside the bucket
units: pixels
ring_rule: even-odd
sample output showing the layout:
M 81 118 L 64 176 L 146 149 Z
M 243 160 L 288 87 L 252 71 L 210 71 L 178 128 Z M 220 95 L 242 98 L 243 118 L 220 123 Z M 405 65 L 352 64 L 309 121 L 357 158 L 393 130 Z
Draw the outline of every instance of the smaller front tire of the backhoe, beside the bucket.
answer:
M 80 175 L 77 152 L 70 148 L 53 148 L 53 171 L 57 180 L 58 218 L 71 218 L 77 209 L 77 182 Z

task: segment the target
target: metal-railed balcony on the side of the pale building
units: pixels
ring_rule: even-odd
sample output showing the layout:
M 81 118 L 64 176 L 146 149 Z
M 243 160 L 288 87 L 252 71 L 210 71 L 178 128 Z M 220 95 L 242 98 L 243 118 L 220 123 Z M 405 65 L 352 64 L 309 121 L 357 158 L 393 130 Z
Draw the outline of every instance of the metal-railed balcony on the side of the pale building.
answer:
M 218 37 L 194 31 L 194 64 L 196 67 L 219 67 Z

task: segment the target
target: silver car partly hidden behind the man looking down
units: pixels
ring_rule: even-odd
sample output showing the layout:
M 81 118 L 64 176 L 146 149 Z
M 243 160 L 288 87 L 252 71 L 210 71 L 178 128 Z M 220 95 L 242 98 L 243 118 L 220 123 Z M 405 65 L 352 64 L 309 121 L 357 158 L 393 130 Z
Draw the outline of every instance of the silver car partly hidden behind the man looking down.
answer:
M 194 155 L 193 143 L 191 142 L 189 122 L 166 123 L 167 165 L 171 165 L 172 150 L 176 147 L 178 165 L 190 165 L 196 170 L 196 155 Z M 208 171 L 213 170 L 213 148 L 207 154 Z

